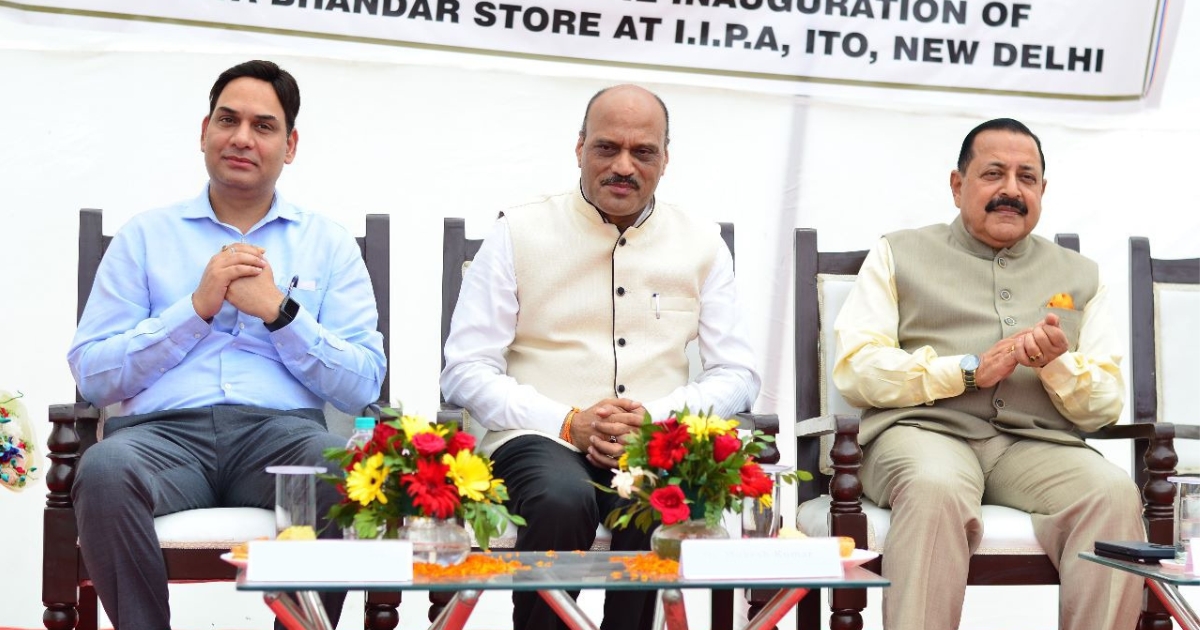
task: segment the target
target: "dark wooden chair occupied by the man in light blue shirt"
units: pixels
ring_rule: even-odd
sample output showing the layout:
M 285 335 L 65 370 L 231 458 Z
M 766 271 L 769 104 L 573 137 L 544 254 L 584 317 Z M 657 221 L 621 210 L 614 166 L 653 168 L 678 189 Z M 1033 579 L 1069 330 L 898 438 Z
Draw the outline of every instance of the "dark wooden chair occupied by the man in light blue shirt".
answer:
M 76 320 L 83 316 L 100 260 L 113 239 L 103 234 L 102 228 L 100 210 L 79 211 Z M 371 275 L 379 312 L 378 330 L 383 334 L 384 352 L 388 353 L 389 216 L 367 215 L 365 235 L 356 240 Z M 389 391 L 389 378 L 385 374 L 379 391 L 380 404 L 388 403 Z M 52 404 L 49 416 L 53 426 L 48 439 L 50 467 L 46 475 L 49 492 L 43 514 L 42 602 L 46 612 L 42 622 L 49 630 L 95 630 L 98 622 L 96 590 L 79 553 L 71 485 L 80 457 L 96 443 L 102 410 L 84 401 L 77 391 L 74 403 Z M 334 424 L 332 419 L 330 424 Z M 155 518 L 155 530 L 172 582 L 233 581 L 235 569 L 221 560 L 220 556 L 228 552 L 235 542 L 274 536 L 275 514 L 256 508 L 187 510 Z M 400 622 L 396 612 L 398 604 L 398 593 L 368 594 L 366 626 L 378 630 L 396 628 Z

